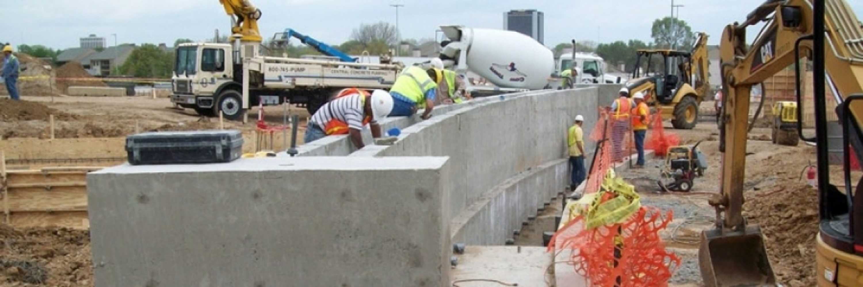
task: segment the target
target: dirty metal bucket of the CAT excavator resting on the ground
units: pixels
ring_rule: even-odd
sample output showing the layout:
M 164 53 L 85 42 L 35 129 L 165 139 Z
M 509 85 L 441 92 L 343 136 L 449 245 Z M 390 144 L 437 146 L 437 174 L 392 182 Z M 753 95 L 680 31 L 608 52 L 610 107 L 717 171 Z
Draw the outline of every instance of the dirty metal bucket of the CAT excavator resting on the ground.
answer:
M 746 232 L 702 231 L 698 264 L 707 287 L 776 286 L 758 226 L 747 226 Z

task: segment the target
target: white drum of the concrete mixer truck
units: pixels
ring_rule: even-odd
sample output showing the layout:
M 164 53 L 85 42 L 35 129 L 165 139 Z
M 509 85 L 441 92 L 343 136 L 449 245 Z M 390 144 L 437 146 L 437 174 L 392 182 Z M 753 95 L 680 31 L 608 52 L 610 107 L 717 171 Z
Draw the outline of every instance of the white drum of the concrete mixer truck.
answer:
M 496 85 L 474 85 L 465 81 L 467 90 L 472 93 L 540 90 L 554 72 L 551 50 L 525 34 L 458 25 L 440 28 L 448 38 L 441 43 L 444 49 L 440 59 L 444 67 L 465 77 L 468 71 L 474 72 Z

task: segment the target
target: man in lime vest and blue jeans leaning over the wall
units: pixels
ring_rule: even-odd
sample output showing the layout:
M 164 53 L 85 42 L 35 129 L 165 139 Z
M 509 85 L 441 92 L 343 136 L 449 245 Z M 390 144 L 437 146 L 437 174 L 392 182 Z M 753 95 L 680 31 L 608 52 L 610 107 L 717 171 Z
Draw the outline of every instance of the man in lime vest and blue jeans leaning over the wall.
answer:
M 434 99 L 438 94 L 438 72 L 435 69 L 444 69 L 444 63 L 440 59 L 432 59 L 431 66 L 434 67 L 424 69 L 409 66 L 401 72 L 389 90 L 394 103 L 389 115 L 413 115 L 417 109 L 425 108 L 421 117 L 423 120 L 431 117 Z

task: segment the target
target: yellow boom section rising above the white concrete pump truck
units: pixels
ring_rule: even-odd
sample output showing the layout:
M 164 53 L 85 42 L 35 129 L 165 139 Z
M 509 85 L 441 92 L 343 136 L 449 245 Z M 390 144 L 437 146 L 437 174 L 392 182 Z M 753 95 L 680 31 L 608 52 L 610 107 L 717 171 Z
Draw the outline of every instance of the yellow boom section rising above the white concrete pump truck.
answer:
M 261 32 L 258 30 L 261 9 L 255 8 L 249 0 L 219 0 L 218 2 L 224 6 L 224 12 L 230 16 L 230 40 L 261 42 Z

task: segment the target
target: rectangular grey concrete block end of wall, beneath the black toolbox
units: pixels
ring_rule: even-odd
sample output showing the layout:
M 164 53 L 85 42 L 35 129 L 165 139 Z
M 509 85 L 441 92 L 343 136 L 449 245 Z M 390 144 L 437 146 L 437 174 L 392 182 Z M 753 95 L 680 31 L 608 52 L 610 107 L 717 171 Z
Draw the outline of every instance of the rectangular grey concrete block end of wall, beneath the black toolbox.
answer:
M 120 165 L 87 178 L 99 286 L 449 286 L 446 158 Z

